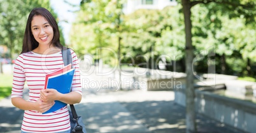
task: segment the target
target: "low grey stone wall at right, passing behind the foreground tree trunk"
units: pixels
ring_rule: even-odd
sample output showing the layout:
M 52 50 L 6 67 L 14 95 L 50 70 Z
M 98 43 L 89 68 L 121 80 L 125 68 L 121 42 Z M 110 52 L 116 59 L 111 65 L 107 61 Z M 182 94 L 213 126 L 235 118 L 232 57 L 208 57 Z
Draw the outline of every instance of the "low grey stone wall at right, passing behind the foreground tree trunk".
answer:
M 174 91 L 175 103 L 185 106 L 185 89 Z M 196 89 L 196 111 L 245 132 L 255 132 L 256 104 Z

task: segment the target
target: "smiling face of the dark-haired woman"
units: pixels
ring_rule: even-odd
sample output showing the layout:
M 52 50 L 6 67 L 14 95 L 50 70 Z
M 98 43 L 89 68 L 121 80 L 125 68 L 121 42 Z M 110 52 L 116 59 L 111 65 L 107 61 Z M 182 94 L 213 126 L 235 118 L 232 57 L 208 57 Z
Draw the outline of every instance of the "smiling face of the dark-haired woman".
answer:
M 53 28 L 45 17 L 34 16 L 31 22 L 31 31 L 39 45 L 50 45 L 53 39 Z

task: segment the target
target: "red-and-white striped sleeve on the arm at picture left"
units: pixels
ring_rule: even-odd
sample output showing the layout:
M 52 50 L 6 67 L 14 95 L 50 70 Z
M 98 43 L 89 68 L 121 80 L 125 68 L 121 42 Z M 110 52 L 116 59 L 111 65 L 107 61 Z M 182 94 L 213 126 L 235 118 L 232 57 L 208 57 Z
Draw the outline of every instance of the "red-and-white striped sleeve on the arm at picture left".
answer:
M 13 87 L 11 89 L 11 98 L 21 97 L 25 84 L 25 73 L 22 56 L 18 56 L 13 68 Z

